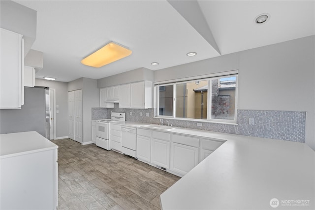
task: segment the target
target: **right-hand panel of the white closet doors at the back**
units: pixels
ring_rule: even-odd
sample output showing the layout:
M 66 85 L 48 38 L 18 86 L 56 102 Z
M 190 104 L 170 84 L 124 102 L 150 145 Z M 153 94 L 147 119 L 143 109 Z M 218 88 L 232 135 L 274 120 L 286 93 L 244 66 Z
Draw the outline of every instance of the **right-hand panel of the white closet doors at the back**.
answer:
M 82 90 L 74 91 L 74 109 L 75 109 L 75 136 L 74 140 L 82 142 Z

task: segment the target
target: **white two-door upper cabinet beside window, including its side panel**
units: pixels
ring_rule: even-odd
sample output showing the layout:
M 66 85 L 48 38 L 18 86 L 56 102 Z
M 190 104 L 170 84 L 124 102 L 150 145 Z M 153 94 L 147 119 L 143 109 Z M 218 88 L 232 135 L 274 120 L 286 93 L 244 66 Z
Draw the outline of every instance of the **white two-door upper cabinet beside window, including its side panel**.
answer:
M 153 84 L 142 81 L 120 86 L 119 107 L 132 109 L 153 108 Z

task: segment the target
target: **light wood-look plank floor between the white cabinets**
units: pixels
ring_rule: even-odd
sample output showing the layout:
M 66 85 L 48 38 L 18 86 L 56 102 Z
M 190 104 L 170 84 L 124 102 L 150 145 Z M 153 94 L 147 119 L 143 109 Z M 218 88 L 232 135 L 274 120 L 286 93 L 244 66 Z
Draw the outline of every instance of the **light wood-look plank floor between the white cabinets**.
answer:
M 158 210 L 159 195 L 180 177 L 95 144 L 59 146 L 58 210 Z

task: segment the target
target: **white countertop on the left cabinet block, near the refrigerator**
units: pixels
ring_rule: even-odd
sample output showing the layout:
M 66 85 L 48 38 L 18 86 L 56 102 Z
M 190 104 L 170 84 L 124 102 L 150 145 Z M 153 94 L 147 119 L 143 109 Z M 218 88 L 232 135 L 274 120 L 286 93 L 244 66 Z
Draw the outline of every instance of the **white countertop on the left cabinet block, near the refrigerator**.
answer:
M 0 135 L 0 159 L 54 149 L 58 146 L 36 131 Z

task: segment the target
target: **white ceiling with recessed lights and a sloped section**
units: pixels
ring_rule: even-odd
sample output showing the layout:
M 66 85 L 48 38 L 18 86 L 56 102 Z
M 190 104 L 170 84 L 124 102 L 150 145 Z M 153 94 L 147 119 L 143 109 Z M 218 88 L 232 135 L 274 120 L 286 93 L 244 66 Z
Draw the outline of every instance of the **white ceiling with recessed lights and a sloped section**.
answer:
M 315 34 L 313 0 L 15 0 L 37 11 L 33 50 L 44 53 L 36 78 L 99 79 L 158 70 Z M 254 19 L 270 14 L 264 24 Z M 117 42 L 132 54 L 100 68 L 80 61 Z M 188 52 L 197 52 L 188 57 Z M 152 62 L 159 65 L 153 66 Z

